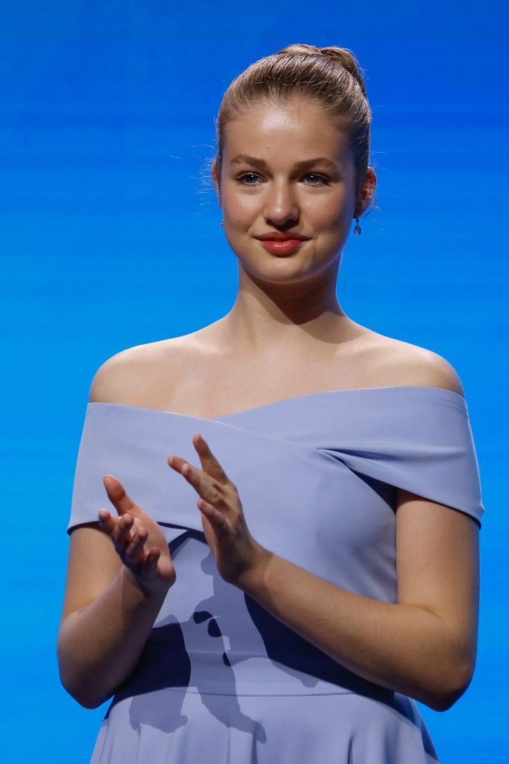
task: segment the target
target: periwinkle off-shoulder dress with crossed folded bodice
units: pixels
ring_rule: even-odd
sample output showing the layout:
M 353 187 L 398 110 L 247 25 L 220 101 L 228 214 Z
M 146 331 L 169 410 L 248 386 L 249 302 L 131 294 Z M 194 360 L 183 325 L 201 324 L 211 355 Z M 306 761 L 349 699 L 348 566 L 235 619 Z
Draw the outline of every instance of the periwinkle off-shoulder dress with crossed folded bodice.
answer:
M 114 474 L 164 529 L 177 571 L 91 764 L 430 764 L 413 699 L 366 681 L 219 575 L 198 495 L 199 432 L 261 545 L 348 591 L 397 602 L 396 487 L 481 526 L 465 400 L 436 387 L 312 393 L 202 419 L 89 403 L 67 533 L 113 510 Z

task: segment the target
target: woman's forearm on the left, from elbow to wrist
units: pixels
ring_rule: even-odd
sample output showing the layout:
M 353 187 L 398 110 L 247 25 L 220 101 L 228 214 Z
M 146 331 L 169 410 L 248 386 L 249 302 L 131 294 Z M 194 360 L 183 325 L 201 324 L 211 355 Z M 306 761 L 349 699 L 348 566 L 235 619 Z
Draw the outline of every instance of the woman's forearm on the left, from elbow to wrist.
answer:
M 165 596 L 147 594 L 123 565 L 100 597 L 60 624 L 60 679 L 76 701 L 95 708 L 131 674 Z

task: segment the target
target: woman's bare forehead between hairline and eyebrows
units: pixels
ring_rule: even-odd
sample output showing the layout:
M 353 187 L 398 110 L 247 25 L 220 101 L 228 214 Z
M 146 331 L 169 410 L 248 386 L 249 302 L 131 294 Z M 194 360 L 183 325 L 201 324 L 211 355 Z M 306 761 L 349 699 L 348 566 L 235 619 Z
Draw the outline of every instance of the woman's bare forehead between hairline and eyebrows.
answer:
M 332 121 L 319 102 L 293 98 L 287 103 L 259 102 L 243 109 L 225 127 L 223 154 L 229 161 L 237 154 L 271 157 L 330 157 L 349 153 L 346 122 Z

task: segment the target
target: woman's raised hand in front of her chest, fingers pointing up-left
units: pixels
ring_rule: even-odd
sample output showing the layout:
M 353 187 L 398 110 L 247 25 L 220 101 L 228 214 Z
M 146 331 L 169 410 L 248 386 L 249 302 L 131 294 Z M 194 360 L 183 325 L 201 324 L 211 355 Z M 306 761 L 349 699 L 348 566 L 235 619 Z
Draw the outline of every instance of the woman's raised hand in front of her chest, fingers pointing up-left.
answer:
M 168 464 L 201 497 L 196 506 L 202 512 L 203 533 L 216 558 L 219 574 L 229 584 L 242 588 L 242 581 L 270 552 L 249 533 L 237 488 L 198 433 L 193 435 L 193 445 L 203 470 L 174 454 L 168 457 Z

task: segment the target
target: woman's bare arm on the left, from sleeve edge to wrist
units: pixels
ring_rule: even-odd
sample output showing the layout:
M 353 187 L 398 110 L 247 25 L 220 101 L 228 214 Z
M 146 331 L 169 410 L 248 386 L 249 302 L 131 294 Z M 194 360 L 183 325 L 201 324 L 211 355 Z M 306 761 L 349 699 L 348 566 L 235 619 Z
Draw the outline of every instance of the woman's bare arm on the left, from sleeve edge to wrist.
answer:
M 73 531 L 69 569 L 76 584 L 89 583 L 85 594 L 68 579 L 57 639 L 60 681 L 79 704 L 96 708 L 135 669 L 166 591 L 141 588 L 99 528 Z M 89 601 L 76 607 L 79 597 Z

